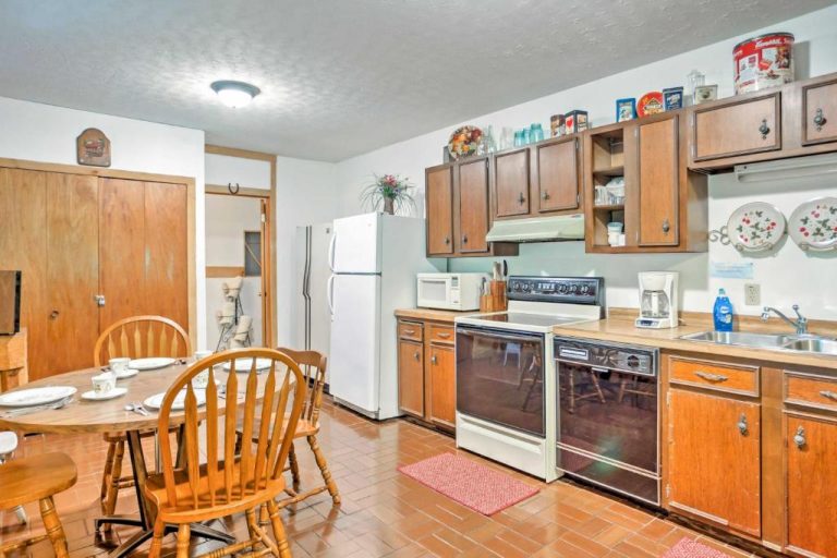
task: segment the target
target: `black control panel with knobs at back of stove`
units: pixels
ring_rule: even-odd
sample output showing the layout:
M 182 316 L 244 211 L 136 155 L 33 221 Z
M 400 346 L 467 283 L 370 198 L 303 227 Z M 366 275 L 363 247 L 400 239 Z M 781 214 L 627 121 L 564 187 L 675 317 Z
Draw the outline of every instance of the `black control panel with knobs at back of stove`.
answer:
M 512 301 L 605 306 L 605 280 L 602 277 L 511 276 L 506 291 Z

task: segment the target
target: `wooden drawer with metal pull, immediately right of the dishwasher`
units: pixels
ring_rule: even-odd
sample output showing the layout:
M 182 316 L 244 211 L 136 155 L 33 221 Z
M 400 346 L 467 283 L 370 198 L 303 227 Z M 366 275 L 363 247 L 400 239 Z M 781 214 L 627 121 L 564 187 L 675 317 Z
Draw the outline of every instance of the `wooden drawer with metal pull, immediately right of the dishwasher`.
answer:
M 669 357 L 669 381 L 733 393 L 759 395 L 759 368 Z

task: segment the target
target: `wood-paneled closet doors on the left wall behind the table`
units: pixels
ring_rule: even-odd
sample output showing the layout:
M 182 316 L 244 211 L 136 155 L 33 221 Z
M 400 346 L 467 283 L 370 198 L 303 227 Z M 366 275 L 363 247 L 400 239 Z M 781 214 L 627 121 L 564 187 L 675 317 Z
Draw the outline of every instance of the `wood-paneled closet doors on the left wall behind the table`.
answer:
M 0 160 L 0 269 L 22 270 L 31 379 L 92 366 L 99 331 L 118 319 L 190 326 L 189 179 L 19 166 Z

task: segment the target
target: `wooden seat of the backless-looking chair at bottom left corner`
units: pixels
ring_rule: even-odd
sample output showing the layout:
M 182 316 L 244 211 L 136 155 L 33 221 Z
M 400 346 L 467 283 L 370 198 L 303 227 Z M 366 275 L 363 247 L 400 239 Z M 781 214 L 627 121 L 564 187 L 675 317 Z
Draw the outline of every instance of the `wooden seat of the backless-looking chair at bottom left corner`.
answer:
M 41 453 L 0 466 L 0 509 L 47 498 L 75 484 L 75 463 L 65 453 Z

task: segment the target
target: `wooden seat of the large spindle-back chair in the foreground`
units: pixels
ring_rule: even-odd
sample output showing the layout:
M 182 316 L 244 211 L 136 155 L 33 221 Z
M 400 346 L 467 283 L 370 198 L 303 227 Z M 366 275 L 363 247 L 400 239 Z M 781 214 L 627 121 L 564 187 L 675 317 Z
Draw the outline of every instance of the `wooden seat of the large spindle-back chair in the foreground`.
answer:
M 284 492 L 284 480 L 279 476 L 275 480 L 267 480 L 267 486 L 253 494 L 253 482 L 247 483 L 245 493 L 238 498 L 238 493 L 233 493 L 233 500 L 227 501 L 223 475 L 228 463 L 219 463 L 218 476 L 215 490 L 216 504 L 213 506 L 209 492 L 209 478 L 206 473 L 206 464 L 201 465 L 201 474 L 197 488 L 197 509 L 193 506 L 192 489 L 189 485 L 189 475 L 184 470 L 174 471 L 174 485 L 178 495 L 178 505 L 172 506 L 169 502 L 168 492 L 166 490 L 166 480 L 161 473 L 148 476 L 145 483 L 145 494 L 148 499 L 157 507 L 160 519 L 166 523 L 194 523 L 207 519 L 223 518 L 231 513 L 239 513 L 252 510 L 267 500 L 276 498 Z M 253 466 L 252 464 L 250 465 Z M 232 463 L 232 477 L 238 480 L 241 474 L 240 460 Z M 235 487 L 238 490 L 238 486 Z M 238 499 L 236 499 L 238 498 Z

